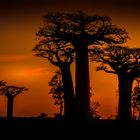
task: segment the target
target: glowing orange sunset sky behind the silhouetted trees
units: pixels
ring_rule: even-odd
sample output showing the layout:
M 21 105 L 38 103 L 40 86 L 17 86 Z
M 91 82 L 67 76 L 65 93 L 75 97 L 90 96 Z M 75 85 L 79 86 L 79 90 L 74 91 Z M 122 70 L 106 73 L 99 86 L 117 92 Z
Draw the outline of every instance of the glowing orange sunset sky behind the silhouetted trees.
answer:
M 93 15 L 107 15 L 112 23 L 125 28 L 130 47 L 140 47 L 140 2 L 138 0 L 1 0 L 0 2 L 0 80 L 9 85 L 25 86 L 29 91 L 15 98 L 14 116 L 39 116 L 58 112 L 48 81 L 56 71 L 47 60 L 33 55 L 36 32 L 48 12 L 84 10 Z M 72 67 L 74 64 L 72 65 Z M 90 85 L 94 100 L 101 104 L 102 118 L 116 112 L 117 76 L 96 72 L 90 64 Z M 6 115 L 6 97 L 0 96 L 0 116 Z

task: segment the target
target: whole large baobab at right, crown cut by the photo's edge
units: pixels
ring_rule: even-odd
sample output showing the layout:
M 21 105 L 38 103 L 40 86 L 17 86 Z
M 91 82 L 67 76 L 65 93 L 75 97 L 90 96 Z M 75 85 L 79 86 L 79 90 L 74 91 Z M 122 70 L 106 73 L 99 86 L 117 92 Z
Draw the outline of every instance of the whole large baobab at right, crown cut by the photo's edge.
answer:
M 140 76 L 140 48 L 109 46 L 95 48 L 92 60 L 100 62 L 97 70 L 117 74 L 119 82 L 118 119 L 131 120 L 132 84 Z M 91 53 L 91 54 L 92 54 Z

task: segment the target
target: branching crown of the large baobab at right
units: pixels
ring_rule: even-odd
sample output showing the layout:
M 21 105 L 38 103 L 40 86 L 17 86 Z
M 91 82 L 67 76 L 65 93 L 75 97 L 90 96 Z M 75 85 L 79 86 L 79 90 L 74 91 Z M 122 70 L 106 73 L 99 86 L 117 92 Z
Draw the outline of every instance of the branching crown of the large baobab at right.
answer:
M 93 61 L 101 63 L 97 70 L 129 75 L 133 78 L 140 76 L 140 48 L 116 45 L 105 48 L 95 47 L 91 54 Z

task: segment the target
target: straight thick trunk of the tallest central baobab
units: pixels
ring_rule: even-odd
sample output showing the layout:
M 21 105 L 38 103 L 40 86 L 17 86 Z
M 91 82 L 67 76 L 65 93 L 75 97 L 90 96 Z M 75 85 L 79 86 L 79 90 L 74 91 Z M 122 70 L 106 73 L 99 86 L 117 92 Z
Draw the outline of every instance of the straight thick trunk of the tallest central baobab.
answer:
M 79 119 L 89 120 L 89 62 L 87 46 L 76 48 L 76 104 Z

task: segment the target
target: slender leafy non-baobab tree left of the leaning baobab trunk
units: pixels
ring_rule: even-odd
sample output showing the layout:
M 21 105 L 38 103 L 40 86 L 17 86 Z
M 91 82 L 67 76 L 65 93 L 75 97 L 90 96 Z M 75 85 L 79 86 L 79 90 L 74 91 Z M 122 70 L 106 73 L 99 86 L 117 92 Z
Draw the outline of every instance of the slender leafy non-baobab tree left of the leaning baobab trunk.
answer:
M 55 72 L 55 75 L 49 81 L 49 86 L 51 86 L 49 94 L 52 94 L 52 97 L 55 100 L 54 104 L 60 106 L 59 114 L 62 115 L 64 104 L 64 87 L 60 70 Z

